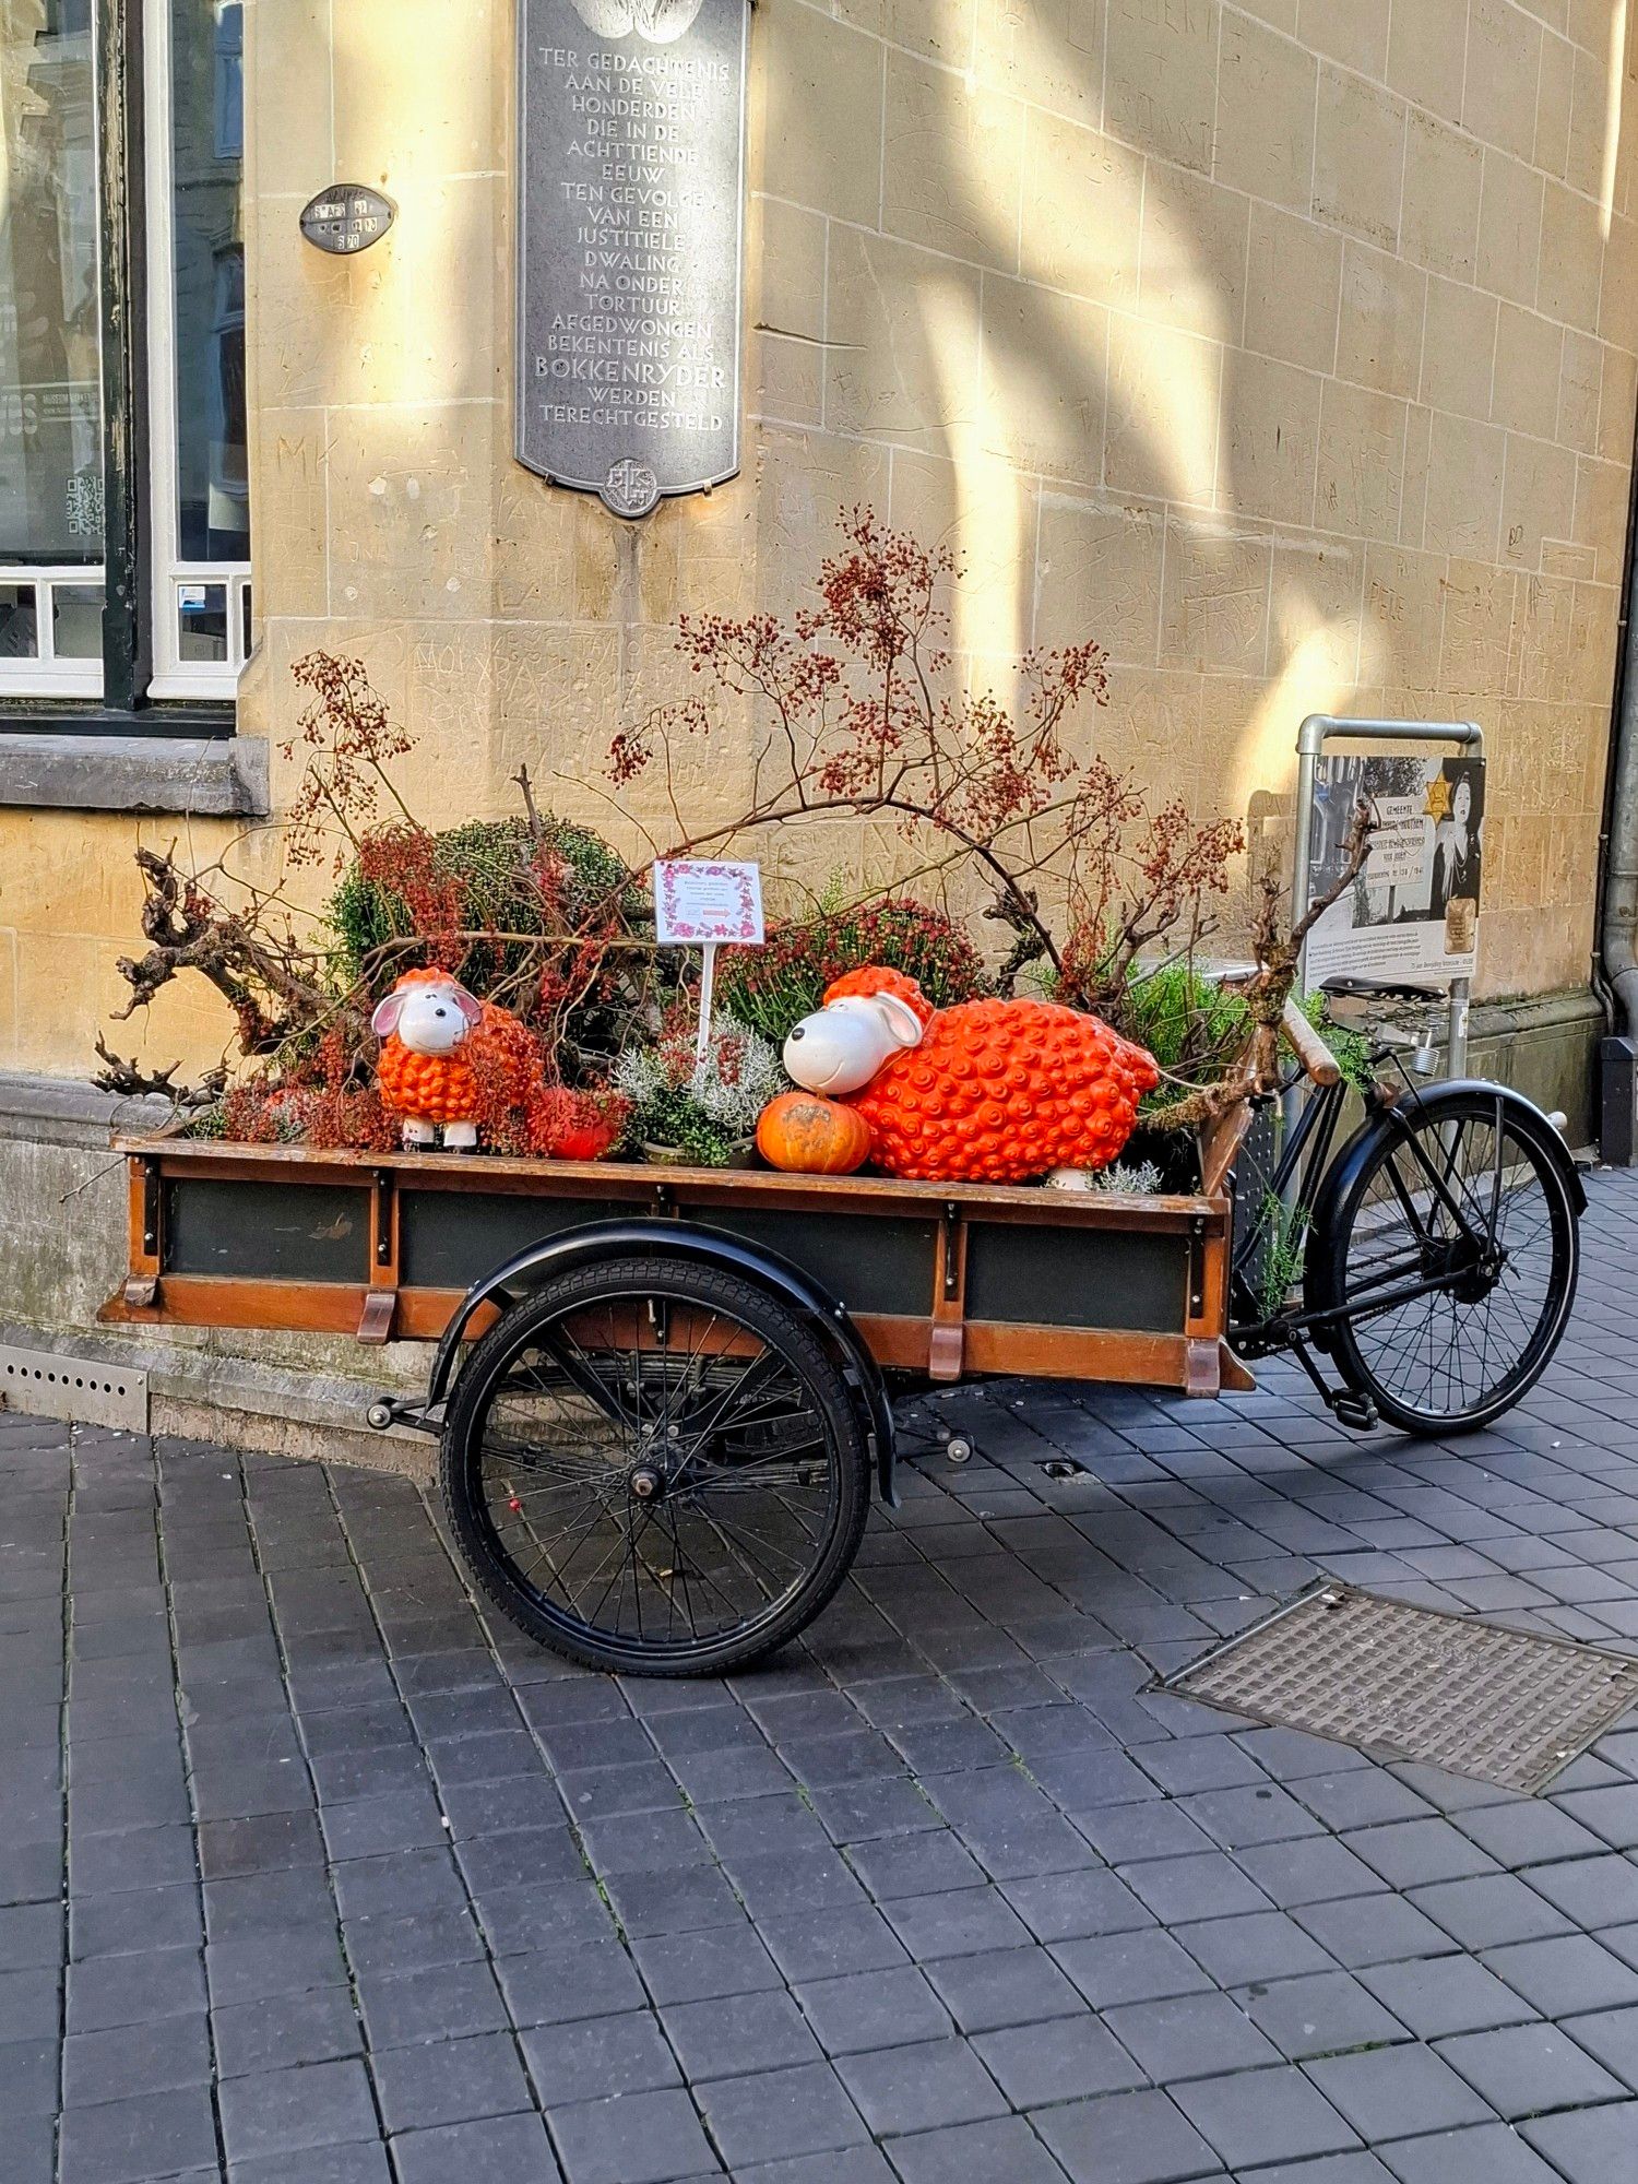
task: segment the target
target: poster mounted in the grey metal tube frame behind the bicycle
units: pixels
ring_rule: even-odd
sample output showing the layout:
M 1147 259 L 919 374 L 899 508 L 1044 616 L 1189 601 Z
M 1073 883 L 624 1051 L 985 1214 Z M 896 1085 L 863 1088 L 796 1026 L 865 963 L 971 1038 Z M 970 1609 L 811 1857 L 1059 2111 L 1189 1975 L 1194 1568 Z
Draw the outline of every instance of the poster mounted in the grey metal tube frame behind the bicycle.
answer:
M 1310 898 L 1348 865 L 1354 812 L 1372 852 L 1308 935 L 1308 985 L 1326 978 L 1472 978 L 1485 836 L 1483 758 L 1321 758 L 1315 767 Z

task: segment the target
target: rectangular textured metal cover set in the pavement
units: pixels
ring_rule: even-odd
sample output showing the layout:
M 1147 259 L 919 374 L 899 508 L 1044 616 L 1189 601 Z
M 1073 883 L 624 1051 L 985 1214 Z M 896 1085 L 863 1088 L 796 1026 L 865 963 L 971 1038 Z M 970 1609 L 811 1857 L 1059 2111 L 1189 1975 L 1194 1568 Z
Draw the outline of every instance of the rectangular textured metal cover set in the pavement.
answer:
M 1339 1745 L 1540 1791 L 1638 1706 L 1638 1660 L 1321 1586 L 1179 1669 L 1166 1688 Z

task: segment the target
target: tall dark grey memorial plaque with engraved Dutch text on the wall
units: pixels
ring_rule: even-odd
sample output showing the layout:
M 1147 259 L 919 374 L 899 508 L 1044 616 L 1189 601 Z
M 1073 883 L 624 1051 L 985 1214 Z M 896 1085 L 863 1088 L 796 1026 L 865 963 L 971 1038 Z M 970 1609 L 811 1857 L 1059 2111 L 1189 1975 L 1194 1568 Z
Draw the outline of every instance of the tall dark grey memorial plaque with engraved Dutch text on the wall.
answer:
M 740 461 L 749 0 L 518 13 L 518 461 L 638 518 Z

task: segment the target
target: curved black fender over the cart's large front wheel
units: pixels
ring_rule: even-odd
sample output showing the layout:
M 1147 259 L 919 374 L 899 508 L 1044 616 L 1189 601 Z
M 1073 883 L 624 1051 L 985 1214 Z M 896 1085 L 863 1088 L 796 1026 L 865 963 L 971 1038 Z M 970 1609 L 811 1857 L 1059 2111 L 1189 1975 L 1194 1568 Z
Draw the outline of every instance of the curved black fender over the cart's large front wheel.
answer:
M 847 1306 L 828 1297 L 812 1275 L 778 1251 L 769 1251 L 767 1245 L 745 1243 L 740 1236 L 725 1236 L 721 1230 L 697 1227 L 690 1221 L 587 1221 L 585 1227 L 563 1230 L 502 1260 L 467 1289 L 439 1337 L 426 1389 L 428 1409 L 448 1396 L 461 1343 L 480 1306 L 494 1304 L 507 1310 L 518 1302 L 520 1291 L 533 1289 L 548 1273 L 594 1267 L 598 1260 L 625 1251 L 644 1251 L 736 1273 L 795 1313 L 854 1391 L 876 1452 L 876 1492 L 889 1509 L 898 1509 L 893 1411 L 887 1402 L 880 1365 L 865 1348 Z

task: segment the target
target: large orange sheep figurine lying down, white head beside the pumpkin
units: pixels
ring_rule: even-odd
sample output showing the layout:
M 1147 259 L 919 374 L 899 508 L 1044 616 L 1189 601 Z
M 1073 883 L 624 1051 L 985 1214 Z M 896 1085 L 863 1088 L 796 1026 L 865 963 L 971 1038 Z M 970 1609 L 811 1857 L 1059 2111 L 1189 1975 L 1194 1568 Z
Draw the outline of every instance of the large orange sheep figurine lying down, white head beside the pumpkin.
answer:
M 1125 1147 L 1153 1055 L 1048 1000 L 935 1009 L 895 970 L 854 970 L 784 1044 L 791 1079 L 845 1099 L 871 1160 L 915 1182 L 1022 1184 L 1103 1168 Z

